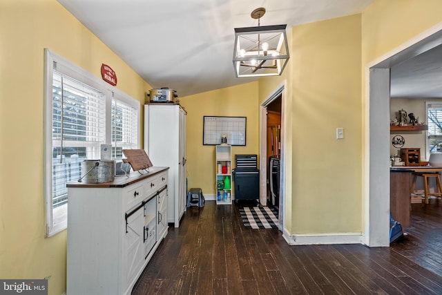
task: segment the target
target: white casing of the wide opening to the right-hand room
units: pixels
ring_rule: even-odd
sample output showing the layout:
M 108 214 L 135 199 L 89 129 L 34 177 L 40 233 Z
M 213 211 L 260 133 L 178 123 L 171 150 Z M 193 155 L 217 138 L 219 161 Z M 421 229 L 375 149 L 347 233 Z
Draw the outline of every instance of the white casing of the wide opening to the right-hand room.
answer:
M 410 45 L 412 44 L 412 45 Z M 365 244 L 390 245 L 390 68 L 442 44 L 442 23 L 365 67 Z

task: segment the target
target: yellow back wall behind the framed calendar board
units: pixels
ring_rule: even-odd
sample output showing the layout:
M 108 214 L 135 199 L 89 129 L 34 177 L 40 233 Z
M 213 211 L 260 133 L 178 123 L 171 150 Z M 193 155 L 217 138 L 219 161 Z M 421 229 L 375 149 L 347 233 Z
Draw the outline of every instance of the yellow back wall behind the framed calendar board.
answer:
M 215 196 L 215 146 L 202 144 L 204 116 L 247 117 L 246 146 L 232 146 L 232 167 L 236 154 L 259 151 L 258 82 L 218 89 L 180 98 L 187 111 L 187 174 L 189 189 Z

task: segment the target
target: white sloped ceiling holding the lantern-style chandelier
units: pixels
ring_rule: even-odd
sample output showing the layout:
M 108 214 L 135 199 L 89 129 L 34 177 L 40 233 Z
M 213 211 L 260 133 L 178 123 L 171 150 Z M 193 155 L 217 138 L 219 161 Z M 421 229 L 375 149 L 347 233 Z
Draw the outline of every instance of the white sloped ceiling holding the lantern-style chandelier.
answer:
M 255 8 L 267 10 L 261 26 L 287 24 L 289 32 L 361 12 L 373 0 L 58 1 L 152 88 L 182 97 L 256 79 L 236 78 L 232 61 L 234 28 L 258 26 Z

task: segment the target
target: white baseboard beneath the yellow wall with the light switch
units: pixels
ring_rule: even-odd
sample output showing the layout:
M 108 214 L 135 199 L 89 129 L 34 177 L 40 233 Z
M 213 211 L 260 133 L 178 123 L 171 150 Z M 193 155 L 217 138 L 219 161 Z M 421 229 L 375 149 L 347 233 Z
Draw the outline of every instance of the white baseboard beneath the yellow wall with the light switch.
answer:
M 284 229 L 282 237 L 287 244 L 295 245 L 333 245 L 333 244 L 363 244 L 361 233 L 345 234 L 300 234 L 291 235 Z

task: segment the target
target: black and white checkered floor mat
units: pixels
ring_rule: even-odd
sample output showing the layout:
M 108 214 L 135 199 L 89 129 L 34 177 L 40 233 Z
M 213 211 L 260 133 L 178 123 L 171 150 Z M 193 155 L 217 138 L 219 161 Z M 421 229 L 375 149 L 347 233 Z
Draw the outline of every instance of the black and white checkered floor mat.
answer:
M 269 207 L 240 208 L 242 222 L 247 229 L 277 229 L 278 210 Z

